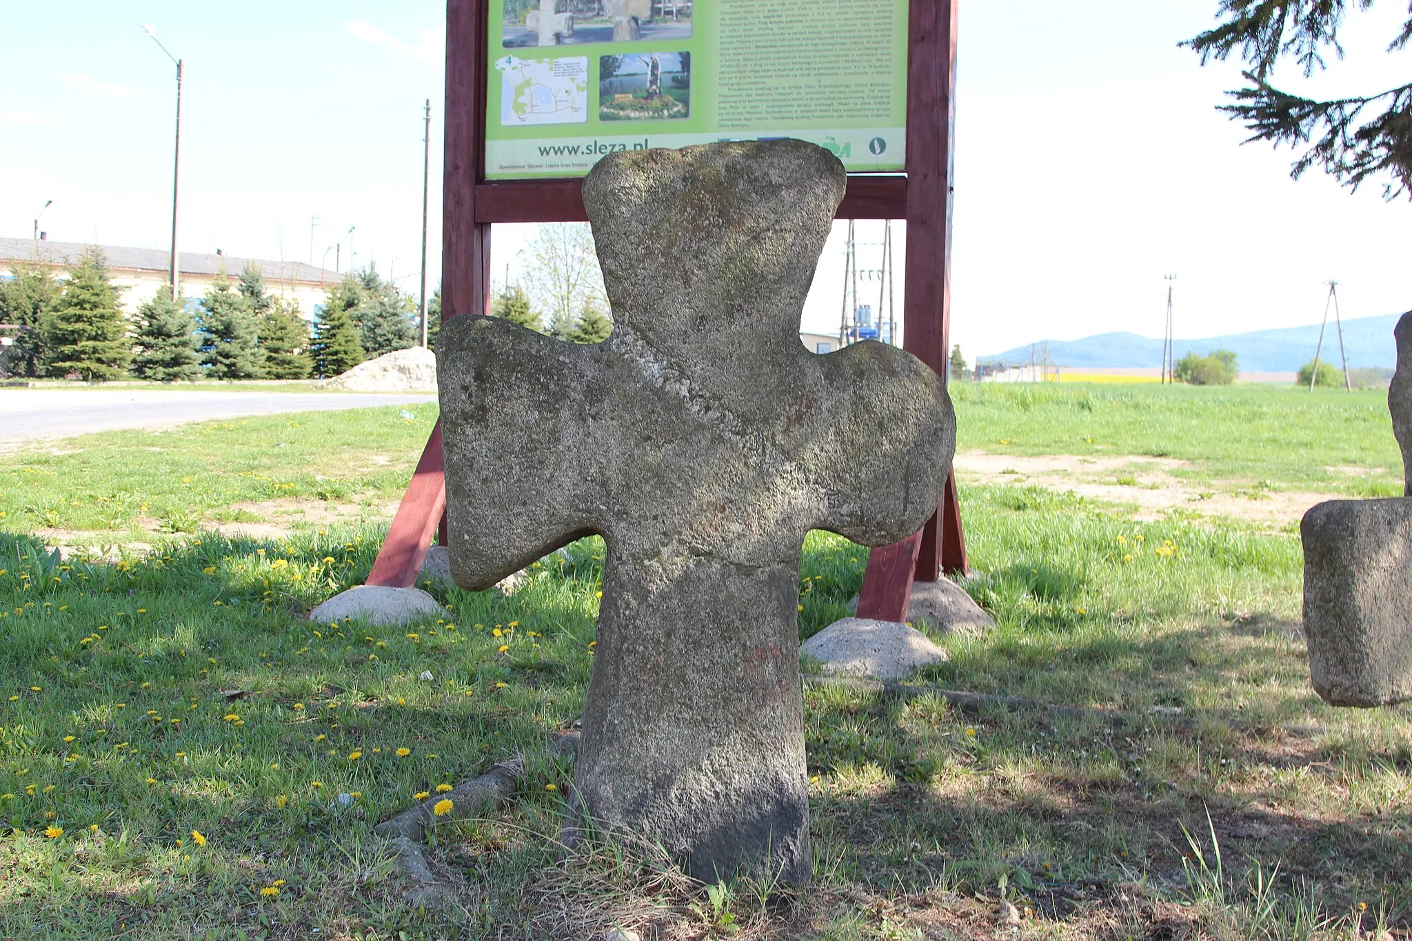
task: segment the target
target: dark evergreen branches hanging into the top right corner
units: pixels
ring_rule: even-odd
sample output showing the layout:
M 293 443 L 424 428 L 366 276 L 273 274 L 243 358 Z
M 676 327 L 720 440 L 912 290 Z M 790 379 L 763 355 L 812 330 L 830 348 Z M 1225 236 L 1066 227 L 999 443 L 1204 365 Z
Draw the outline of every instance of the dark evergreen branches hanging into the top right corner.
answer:
M 1240 54 L 1247 65 L 1245 87 L 1227 92 L 1234 104 L 1220 110 L 1244 121 L 1252 141 L 1276 147 L 1309 145 L 1295 161 L 1296 179 L 1320 165 L 1334 179 L 1357 189 L 1368 178 L 1388 178 L 1385 199 L 1412 199 L 1412 82 L 1371 95 L 1329 100 L 1291 95 L 1275 87 L 1279 59 L 1292 56 L 1308 79 L 1324 68 L 1324 55 L 1340 59 L 1339 30 L 1348 7 L 1367 10 L 1374 0 L 1220 0 L 1213 30 L 1183 42 L 1202 65 Z M 1412 42 L 1412 7 L 1388 52 Z

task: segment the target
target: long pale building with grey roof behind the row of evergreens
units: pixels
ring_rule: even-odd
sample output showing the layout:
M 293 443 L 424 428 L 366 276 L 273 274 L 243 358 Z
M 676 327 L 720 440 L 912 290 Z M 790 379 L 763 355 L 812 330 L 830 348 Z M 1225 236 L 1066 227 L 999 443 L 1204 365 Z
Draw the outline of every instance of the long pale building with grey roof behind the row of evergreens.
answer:
M 123 248 L 119 245 L 93 245 L 107 255 L 109 279 L 126 288 L 121 295 L 123 309 L 128 313 L 152 298 L 158 291 L 167 291 L 171 272 L 171 253 L 165 248 Z M 10 277 L 10 267 L 38 264 L 49 268 L 56 277 L 65 275 L 68 265 L 83 255 L 83 245 L 75 241 L 47 241 L 34 238 L 0 238 L 0 278 Z M 315 305 L 322 305 L 325 292 L 342 275 L 325 268 L 315 268 L 299 261 L 261 261 L 258 258 L 236 258 L 216 253 L 203 255 L 184 251 L 178 255 L 181 271 L 178 285 L 186 298 L 199 298 L 222 274 L 232 281 L 240 277 L 246 265 L 258 265 L 264 275 L 265 291 L 275 296 L 292 299 L 301 313 L 313 319 Z

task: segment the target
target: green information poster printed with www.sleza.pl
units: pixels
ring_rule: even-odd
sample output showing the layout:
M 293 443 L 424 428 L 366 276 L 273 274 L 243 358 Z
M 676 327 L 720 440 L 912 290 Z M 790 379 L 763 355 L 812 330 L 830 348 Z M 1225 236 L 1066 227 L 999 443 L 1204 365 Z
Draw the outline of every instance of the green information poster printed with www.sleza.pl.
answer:
M 490 0 L 486 176 L 795 137 L 905 166 L 908 0 Z

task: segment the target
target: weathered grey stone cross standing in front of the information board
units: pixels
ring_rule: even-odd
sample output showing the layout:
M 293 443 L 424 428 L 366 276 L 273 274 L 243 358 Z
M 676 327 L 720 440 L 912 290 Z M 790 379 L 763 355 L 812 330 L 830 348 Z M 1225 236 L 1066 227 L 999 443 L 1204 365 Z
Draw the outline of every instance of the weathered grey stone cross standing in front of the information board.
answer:
M 611 336 L 460 316 L 436 341 L 456 583 L 607 545 L 569 839 L 587 817 L 699 879 L 809 878 L 801 543 L 915 532 L 956 429 L 911 354 L 799 341 L 844 182 L 791 140 L 610 154 L 583 203 Z

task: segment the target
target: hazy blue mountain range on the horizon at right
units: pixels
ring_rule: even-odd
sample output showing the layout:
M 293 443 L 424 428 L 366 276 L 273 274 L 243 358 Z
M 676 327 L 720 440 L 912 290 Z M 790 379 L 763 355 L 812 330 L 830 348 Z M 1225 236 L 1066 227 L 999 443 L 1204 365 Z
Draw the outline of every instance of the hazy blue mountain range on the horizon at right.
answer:
M 1348 354 L 1348 367 L 1394 368 L 1398 364 L 1398 348 L 1392 339 L 1392 327 L 1402 315 L 1389 313 L 1384 317 L 1358 317 L 1343 322 L 1343 347 Z M 1172 348 L 1176 358 L 1187 353 L 1204 356 L 1211 350 L 1233 350 L 1240 358 L 1243 372 L 1295 372 L 1315 354 L 1319 341 L 1319 324 L 1309 327 L 1286 327 L 1282 330 L 1255 330 L 1254 333 L 1233 333 L 1206 340 L 1175 340 Z M 1082 340 L 1049 340 L 1049 363 L 1070 368 L 1159 368 L 1162 365 L 1162 341 L 1139 337 L 1135 333 L 1100 333 Z M 994 356 L 980 357 L 983 363 L 1028 364 L 1031 347 L 1022 346 Z M 1323 353 L 1339 364 L 1339 337 L 1330 319 L 1324 332 Z

